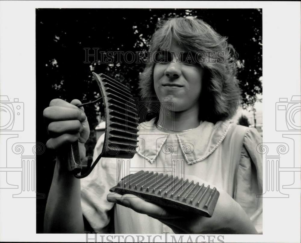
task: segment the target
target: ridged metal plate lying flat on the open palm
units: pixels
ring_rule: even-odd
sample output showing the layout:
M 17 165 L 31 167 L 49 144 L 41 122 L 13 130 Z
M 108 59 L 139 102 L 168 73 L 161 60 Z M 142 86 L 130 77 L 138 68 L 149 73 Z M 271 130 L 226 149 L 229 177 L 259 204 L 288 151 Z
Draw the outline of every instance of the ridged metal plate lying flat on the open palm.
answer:
M 110 189 L 118 194 L 134 194 L 145 201 L 211 217 L 219 198 L 216 188 L 199 185 L 188 179 L 148 171 L 130 174 Z

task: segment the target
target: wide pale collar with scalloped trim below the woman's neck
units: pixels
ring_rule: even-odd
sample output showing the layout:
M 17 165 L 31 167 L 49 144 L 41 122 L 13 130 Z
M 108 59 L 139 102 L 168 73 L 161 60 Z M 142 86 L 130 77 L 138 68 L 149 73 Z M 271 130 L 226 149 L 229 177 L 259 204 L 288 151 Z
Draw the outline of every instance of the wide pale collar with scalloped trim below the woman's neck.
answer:
M 139 124 L 137 153 L 153 163 L 168 137 L 173 134 L 181 147 L 182 154 L 188 164 L 204 160 L 222 143 L 229 129 L 230 120 L 211 123 L 204 121 L 192 130 L 186 132 L 167 133 L 157 129 L 155 118 Z M 151 135 L 151 136 L 150 136 Z M 194 149 L 186 144 L 192 144 Z

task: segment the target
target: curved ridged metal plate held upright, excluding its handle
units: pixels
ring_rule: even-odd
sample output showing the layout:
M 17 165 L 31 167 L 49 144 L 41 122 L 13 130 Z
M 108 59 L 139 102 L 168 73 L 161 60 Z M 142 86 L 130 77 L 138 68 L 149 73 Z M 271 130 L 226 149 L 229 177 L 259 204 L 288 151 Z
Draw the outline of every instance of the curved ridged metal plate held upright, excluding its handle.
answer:
M 93 75 L 101 90 L 106 115 L 101 157 L 132 158 L 138 147 L 138 117 L 129 88 L 102 73 Z

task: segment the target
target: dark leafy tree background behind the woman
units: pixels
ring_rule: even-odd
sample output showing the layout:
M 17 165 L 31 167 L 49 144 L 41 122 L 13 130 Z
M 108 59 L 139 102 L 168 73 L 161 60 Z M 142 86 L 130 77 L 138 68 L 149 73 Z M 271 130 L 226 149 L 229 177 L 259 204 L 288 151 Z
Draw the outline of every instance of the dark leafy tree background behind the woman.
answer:
M 46 144 L 48 139 L 42 113 L 51 99 L 70 102 L 77 98 L 84 103 L 99 97 L 92 71 L 119 80 L 138 96 L 138 75 L 143 71 L 143 63 L 84 63 L 84 48 L 146 51 L 157 22 L 172 16 L 197 16 L 228 37 L 239 54 L 237 79 L 242 89 L 241 104 L 244 108 L 252 107 L 256 94 L 262 93 L 261 9 L 36 9 L 36 141 Z M 103 111 L 101 103 L 85 108 L 91 130 L 86 143 L 87 156 L 93 154 L 94 128 Z M 36 201 L 37 233 L 43 232 L 54 158 L 47 149 L 36 158 L 36 188 L 38 193 L 45 194 L 45 199 Z

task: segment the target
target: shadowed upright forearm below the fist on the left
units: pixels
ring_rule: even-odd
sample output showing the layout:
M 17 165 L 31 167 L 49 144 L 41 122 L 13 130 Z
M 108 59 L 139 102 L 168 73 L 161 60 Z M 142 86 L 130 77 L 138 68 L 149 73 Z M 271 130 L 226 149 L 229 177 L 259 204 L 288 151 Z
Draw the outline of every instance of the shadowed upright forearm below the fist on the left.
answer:
M 45 210 L 44 232 L 83 233 L 80 180 L 62 166 L 67 163 L 61 160 L 64 159 L 57 158 L 54 168 Z

